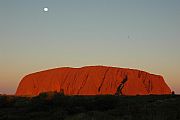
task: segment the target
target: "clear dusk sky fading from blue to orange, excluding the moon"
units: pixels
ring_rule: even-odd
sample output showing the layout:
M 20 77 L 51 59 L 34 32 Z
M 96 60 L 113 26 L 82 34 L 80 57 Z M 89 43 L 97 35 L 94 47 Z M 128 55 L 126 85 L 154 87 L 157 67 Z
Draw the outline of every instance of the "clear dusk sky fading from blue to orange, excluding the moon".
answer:
M 160 74 L 180 94 L 179 6 L 180 0 L 0 0 L 0 94 L 14 94 L 29 73 L 87 65 Z

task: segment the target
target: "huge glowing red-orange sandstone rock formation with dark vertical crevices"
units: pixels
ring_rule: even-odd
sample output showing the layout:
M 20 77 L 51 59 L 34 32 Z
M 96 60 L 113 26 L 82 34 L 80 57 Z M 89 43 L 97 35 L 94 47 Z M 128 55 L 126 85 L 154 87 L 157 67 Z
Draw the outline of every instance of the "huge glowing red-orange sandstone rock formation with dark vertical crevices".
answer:
M 16 95 L 36 96 L 50 91 L 63 91 L 65 95 L 171 94 L 160 75 L 126 68 L 87 66 L 29 74 L 21 80 Z

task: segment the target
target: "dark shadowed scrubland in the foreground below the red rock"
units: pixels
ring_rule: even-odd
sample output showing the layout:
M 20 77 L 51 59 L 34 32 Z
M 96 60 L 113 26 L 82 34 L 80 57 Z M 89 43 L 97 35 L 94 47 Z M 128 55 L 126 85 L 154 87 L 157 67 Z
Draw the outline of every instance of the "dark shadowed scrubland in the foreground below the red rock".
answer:
M 179 95 L 0 96 L 0 120 L 179 120 Z

